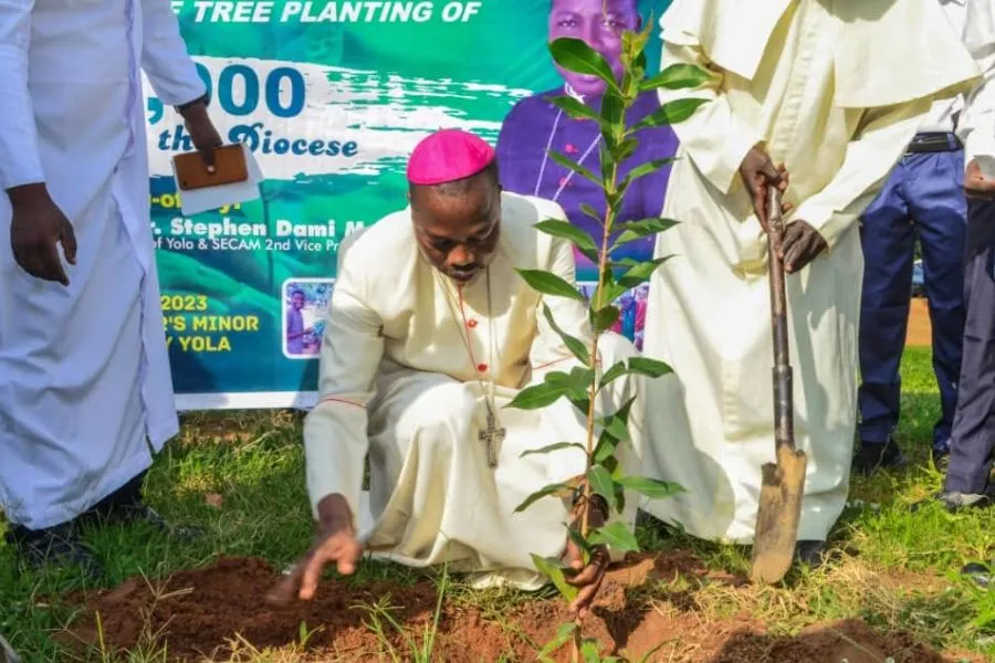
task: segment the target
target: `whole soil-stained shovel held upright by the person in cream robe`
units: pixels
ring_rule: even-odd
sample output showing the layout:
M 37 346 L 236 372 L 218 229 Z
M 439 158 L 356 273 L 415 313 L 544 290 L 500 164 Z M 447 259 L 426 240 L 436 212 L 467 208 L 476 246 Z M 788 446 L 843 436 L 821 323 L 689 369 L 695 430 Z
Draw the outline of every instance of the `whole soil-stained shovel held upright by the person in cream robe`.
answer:
M 753 581 L 761 583 L 781 581 L 794 560 L 807 464 L 805 452 L 795 449 L 784 261 L 778 257 L 784 241 L 784 219 L 781 213 L 781 191 L 776 187 L 769 188 L 767 218 L 771 324 L 774 328 L 774 442 L 777 462 L 765 463 L 761 469 L 763 481 L 750 572 Z

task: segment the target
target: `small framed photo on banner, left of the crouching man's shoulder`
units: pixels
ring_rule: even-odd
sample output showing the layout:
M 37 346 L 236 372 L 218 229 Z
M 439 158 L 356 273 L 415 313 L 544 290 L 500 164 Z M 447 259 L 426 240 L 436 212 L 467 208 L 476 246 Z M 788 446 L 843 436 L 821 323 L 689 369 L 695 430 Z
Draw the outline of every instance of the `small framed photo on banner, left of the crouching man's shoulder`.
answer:
M 289 359 L 315 359 L 322 350 L 322 335 L 334 278 L 292 278 L 283 283 L 283 355 Z

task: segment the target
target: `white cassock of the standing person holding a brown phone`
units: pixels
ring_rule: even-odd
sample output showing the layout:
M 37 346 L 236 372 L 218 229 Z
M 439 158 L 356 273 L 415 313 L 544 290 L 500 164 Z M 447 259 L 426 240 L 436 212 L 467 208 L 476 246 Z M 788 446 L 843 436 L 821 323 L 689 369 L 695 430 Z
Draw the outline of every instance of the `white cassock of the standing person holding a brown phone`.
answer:
M 142 70 L 164 104 L 205 93 L 169 0 L 0 0 L 0 187 L 45 182 L 78 243 L 69 288 L 28 275 L 0 196 L 0 505 L 30 528 L 86 511 L 178 431 Z

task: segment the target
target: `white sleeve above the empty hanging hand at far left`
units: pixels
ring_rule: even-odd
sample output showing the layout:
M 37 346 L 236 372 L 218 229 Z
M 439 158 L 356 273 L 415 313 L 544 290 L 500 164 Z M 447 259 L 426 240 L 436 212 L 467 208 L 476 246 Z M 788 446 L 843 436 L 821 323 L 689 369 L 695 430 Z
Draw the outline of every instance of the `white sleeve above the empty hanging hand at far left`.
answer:
M 0 0 L 0 188 L 45 181 L 28 92 L 34 0 Z

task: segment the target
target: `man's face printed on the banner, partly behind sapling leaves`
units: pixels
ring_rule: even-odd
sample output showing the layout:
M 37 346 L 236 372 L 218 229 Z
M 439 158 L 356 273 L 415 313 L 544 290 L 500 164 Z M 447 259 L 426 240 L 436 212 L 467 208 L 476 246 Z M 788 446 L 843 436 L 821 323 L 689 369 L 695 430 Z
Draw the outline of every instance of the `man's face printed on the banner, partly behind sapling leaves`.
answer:
M 640 24 L 636 0 L 553 0 L 549 42 L 561 38 L 583 40 L 608 61 L 615 77 L 621 80 L 621 33 L 637 31 Z M 559 65 L 556 71 L 584 97 L 605 92 L 605 82 L 597 76 L 568 72 Z

